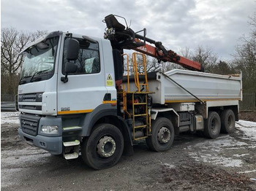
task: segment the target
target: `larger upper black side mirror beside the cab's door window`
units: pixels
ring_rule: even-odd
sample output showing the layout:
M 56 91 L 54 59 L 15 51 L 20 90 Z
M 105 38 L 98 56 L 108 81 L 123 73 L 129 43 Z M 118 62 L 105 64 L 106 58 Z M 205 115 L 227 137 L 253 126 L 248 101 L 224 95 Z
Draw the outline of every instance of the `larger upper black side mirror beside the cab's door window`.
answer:
M 67 61 L 75 61 L 78 59 L 79 42 L 76 39 L 66 39 L 67 41 Z

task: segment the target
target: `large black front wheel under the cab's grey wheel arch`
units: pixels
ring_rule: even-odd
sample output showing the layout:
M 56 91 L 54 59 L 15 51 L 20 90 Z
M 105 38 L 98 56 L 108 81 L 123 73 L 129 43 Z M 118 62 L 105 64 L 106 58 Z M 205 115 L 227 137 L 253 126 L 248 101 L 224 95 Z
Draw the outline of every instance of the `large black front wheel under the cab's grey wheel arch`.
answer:
M 121 131 L 107 123 L 97 125 L 81 146 L 83 161 L 95 170 L 116 165 L 123 150 L 124 138 Z

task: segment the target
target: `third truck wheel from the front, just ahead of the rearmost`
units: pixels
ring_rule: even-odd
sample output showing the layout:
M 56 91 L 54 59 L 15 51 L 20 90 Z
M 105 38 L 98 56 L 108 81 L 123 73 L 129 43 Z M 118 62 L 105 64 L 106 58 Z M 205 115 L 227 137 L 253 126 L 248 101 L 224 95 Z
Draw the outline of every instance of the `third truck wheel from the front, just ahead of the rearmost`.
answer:
M 204 136 L 210 139 L 216 139 L 220 132 L 220 118 L 217 112 L 209 112 L 208 119 L 205 120 L 205 126 L 203 130 Z

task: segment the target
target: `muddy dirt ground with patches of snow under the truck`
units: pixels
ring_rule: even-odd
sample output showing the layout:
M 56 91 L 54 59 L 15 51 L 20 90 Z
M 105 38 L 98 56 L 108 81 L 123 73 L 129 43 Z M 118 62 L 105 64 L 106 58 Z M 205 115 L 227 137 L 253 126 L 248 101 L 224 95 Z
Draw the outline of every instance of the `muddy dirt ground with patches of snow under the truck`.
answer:
M 256 122 L 218 139 L 176 136 L 167 152 L 144 141 L 113 168 L 94 171 L 18 139 L 18 113 L 1 113 L 1 190 L 256 190 Z

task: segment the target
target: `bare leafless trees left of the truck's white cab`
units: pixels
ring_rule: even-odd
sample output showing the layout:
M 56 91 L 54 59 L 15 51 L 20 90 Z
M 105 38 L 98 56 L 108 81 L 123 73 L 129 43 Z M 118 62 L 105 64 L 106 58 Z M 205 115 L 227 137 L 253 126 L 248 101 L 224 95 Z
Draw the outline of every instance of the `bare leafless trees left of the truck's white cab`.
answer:
M 19 54 L 29 42 L 46 31 L 34 33 L 17 31 L 15 28 L 1 28 L 1 93 L 17 93 L 19 72 L 24 55 Z

